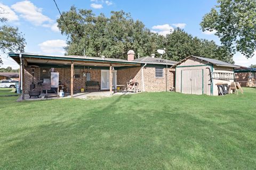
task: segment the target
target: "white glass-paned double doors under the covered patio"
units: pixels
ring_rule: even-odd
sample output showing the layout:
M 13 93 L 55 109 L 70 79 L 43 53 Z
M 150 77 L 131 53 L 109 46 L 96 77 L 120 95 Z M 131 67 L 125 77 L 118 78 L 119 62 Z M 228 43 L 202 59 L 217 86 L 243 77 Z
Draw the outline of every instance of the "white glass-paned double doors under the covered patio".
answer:
M 116 70 L 113 70 L 112 84 L 116 86 Z M 101 90 L 109 90 L 109 70 L 101 70 Z M 112 87 L 114 89 L 114 87 Z

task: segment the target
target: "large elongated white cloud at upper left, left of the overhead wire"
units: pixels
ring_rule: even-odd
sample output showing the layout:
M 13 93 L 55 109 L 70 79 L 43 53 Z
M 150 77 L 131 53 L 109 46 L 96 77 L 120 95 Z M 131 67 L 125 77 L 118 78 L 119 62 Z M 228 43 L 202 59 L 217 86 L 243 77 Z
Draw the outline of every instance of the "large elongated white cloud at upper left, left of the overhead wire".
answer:
M 43 23 L 52 23 L 53 20 L 42 14 L 42 8 L 36 7 L 30 1 L 21 1 L 11 6 L 13 10 L 20 13 L 20 17 L 33 23 L 34 25 L 42 25 Z

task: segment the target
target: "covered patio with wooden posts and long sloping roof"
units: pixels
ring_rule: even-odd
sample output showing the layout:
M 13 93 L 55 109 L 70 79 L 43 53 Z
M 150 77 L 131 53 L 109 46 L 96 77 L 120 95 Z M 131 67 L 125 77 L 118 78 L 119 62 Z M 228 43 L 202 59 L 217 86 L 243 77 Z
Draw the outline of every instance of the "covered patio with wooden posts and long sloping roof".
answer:
M 141 67 L 141 62 L 126 61 L 116 58 L 87 57 L 87 56 L 48 56 L 29 53 L 10 53 L 20 64 L 22 89 L 21 100 L 28 100 L 30 84 L 39 86 L 46 73 L 56 72 L 59 75 L 59 83 L 65 84 L 67 91 L 63 98 L 90 98 L 90 96 L 110 96 L 116 88 L 117 79 L 124 79 L 118 70 Z M 125 75 L 123 75 L 125 76 Z M 127 78 L 128 79 L 128 78 Z M 98 81 L 99 91 L 81 92 L 85 88 L 86 81 Z M 129 80 L 128 80 L 129 81 Z M 122 84 L 125 86 L 125 84 Z M 59 90 L 58 90 L 59 92 Z M 118 92 L 117 94 L 126 94 Z M 45 94 L 41 93 L 41 99 Z M 49 98 L 58 98 L 57 95 L 47 95 Z M 36 99 L 36 98 L 33 98 Z

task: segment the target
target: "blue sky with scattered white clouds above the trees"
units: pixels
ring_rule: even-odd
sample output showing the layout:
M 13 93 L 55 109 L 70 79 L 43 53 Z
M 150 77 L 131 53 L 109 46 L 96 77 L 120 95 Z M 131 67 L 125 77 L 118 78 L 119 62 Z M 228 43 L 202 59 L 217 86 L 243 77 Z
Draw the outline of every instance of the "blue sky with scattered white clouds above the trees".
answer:
M 217 4 L 217 0 L 55 1 L 60 11 L 68 11 L 71 5 L 91 9 L 97 15 L 104 13 L 106 16 L 109 16 L 111 11 L 124 10 L 130 12 L 134 20 L 142 21 L 147 28 L 162 35 L 165 35 L 170 29 L 180 27 L 193 36 L 214 40 L 220 44 L 219 38 L 213 32 L 202 32 L 199 25 L 204 14 Z M 7 24 L 18 27 L 25 34 L 27 42 L 25 52 L 63 55 L 66 37 L 61 35 L 56 27 L 59 13 L 53 0 L 0 0 L 0 6 L 7 12 L 4 14 L 9 19 Z M 7 58 L 6 55 L 2 57 L 4 65 L 1 67 L 18 68 L 11 58 Z M 234 60 L 236 64 L 244 66 L 256 64 L 255 57 L 247 60 L 239 53 L 234 56 Z

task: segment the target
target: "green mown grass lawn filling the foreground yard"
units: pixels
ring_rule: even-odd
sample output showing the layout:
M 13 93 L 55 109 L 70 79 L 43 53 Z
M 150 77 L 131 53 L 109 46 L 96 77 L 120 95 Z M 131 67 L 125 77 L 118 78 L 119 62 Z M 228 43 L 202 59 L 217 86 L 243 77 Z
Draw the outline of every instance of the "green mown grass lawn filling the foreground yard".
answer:
M 0 98 L 0 169 L 255 169 L 256 90 L 16 103 Z

